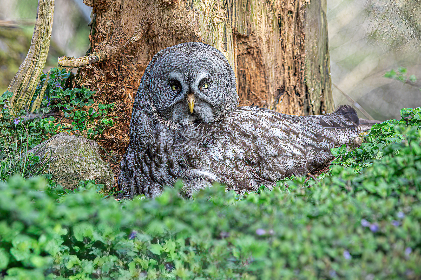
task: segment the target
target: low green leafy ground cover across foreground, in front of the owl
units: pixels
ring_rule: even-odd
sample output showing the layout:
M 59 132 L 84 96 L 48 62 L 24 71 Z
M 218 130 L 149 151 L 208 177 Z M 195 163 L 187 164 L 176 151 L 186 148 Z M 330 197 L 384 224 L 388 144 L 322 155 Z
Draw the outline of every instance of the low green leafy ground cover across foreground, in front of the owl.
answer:
M 175 186 L 119 202 L 13 177 L 0 183 L 0 278 L 420 279 L 421 108 L 401 113 L 333 149 L 322 180 L 244 196 L 184 200 Z

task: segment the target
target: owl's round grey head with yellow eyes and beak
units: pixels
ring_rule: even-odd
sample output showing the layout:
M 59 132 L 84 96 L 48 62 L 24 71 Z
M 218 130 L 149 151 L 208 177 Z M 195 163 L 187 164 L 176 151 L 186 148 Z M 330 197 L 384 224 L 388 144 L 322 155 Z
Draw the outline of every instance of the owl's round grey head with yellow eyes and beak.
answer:
M 142 77 L 142 86 L 155 113 L 173 123 L 221 120 L 238 105 L 228 60 L 216 48 L 200 42 L 158 52 Z

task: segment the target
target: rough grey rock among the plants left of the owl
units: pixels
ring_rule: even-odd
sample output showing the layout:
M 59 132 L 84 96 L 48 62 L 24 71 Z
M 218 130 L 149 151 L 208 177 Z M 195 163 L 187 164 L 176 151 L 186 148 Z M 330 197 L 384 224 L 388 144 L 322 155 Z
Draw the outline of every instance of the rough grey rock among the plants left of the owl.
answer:
M 104 184 L 105 189 L 114 186 L 111 167 L 101 159 L 98 144 L 93 140 L 62 132 L 35 146 L 31 152 L 44 164 L 48 163 L 45 173 L 51 173 L 53 181 L 64 188 L 76 188 L 85 180 Z

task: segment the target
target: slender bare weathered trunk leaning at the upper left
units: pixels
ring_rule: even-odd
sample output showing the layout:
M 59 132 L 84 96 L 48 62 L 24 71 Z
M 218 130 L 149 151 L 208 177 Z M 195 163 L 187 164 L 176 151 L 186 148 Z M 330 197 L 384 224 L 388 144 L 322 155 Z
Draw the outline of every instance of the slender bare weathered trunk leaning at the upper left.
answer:
M 47 60 L 53 26 L 54 0 L 38 0 L 37 19 L 31 47 L 24 62 L 8 86 L 13 93 L 9 103 L 15 112 L 30 105 Z M 42 99 L 42 97 L 40 97 Z M 39 105 L 38 105 L 39 106 Z M 34 108 L 35 109 L 35 108 Z

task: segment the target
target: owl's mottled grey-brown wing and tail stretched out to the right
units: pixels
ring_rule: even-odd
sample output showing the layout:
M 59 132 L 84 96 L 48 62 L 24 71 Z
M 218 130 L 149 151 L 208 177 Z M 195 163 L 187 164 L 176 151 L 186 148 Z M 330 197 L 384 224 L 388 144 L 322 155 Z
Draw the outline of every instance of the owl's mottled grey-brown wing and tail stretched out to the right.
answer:
M 294 116 L 257 107 L 238 107 L 220 123 L 206 126 L 205 141 L 216 174 L 228 185 L 275 182 L 325 165 L 330 149 L 352 142 L 358 117 L 350 106 L 318 116 Z M 235 186 L 234 189 L 240 186 Z

